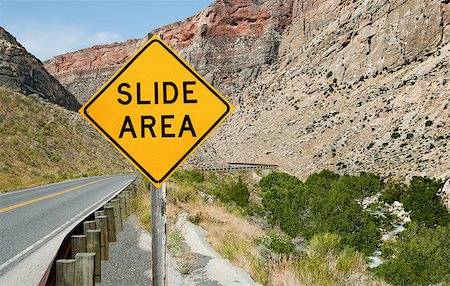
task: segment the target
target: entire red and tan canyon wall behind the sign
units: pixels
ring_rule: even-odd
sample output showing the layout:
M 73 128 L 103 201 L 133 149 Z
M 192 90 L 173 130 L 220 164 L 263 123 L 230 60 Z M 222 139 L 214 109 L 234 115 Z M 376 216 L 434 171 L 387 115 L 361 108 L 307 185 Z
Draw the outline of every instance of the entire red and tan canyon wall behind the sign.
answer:
M 228 161 L 450 177 L 449 1 L 219 0 L 152 33 L 236 105 L 209 140 Z M 46 67 L 85 100 L 131 43 Z

